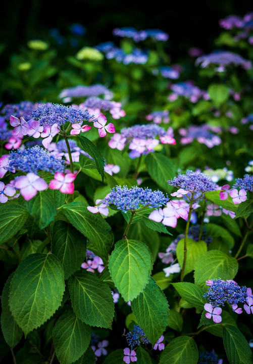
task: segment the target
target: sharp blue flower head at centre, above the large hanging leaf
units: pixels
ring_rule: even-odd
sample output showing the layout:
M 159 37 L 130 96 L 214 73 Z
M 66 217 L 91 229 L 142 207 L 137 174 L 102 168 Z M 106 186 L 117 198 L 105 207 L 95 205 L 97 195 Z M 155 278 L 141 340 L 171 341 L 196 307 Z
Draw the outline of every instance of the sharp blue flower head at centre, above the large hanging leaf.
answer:
M 169 200 L 168 196 L 164 196 L 161 191 L 152 191 L 151 189 L 141 187 L 116 186 L 111 193 L 103 200 L 104 203 L 117 206 L 118 210 L 127 212 L 140 208 L 140 205 L 150 208 L 158 208 L 165 205 Z

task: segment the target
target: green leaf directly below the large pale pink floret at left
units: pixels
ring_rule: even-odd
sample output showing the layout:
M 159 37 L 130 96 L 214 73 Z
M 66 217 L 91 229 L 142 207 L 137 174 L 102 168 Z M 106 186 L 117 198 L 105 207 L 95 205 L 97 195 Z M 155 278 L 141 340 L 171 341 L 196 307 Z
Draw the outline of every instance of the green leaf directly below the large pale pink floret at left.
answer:
M 46 228 L 54 220 L 59 207 L 54 199 L 53 190 L 50 189 L 38 191 L 33 199 L 25 201 L 25 206 L 30 214 L 36 218 L 39 229 Z

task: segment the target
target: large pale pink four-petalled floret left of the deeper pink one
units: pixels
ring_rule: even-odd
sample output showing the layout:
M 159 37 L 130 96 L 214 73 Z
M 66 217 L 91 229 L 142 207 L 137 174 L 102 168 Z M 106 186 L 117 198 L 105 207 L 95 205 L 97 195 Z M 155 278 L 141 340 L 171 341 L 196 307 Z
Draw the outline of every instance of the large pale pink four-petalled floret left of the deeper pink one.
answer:
M 17 177 L 15 180 L 15 187 L 20 190 L 24 199 L 29 201 L 36 195 L 37 191 L 46 190 L 47 183 L 37 174 L 29 172 L 25 176 Z

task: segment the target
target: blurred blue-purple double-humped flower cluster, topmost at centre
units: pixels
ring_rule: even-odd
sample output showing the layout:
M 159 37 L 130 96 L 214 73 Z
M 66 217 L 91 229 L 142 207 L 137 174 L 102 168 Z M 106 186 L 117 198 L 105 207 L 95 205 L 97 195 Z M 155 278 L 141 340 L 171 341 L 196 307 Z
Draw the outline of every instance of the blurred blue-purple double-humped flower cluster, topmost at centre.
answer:
M 132 27 L 115 28 L 113 34 L 119 37 L 132 38 L 134 41 L 139 42 L 150 37 L 160 41 L 167 41 L 169 35 L 160 29 L 146 29 L 137 30 Z

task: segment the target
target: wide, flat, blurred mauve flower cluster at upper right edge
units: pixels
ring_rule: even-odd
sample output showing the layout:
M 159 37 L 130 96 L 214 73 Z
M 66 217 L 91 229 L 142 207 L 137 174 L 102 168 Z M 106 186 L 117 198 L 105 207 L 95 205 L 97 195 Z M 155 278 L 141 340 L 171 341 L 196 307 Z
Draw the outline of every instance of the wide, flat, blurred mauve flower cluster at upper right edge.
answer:
M 217 65 L 224 69 L 230 65 L 241 66 L 246 70 L 252 68 L 252 63 L 250 61 L 228 51 L 216 51 L 196 59 L 196 65 L 200 65 L 201 68 L 205 68 L 210 64 Z

